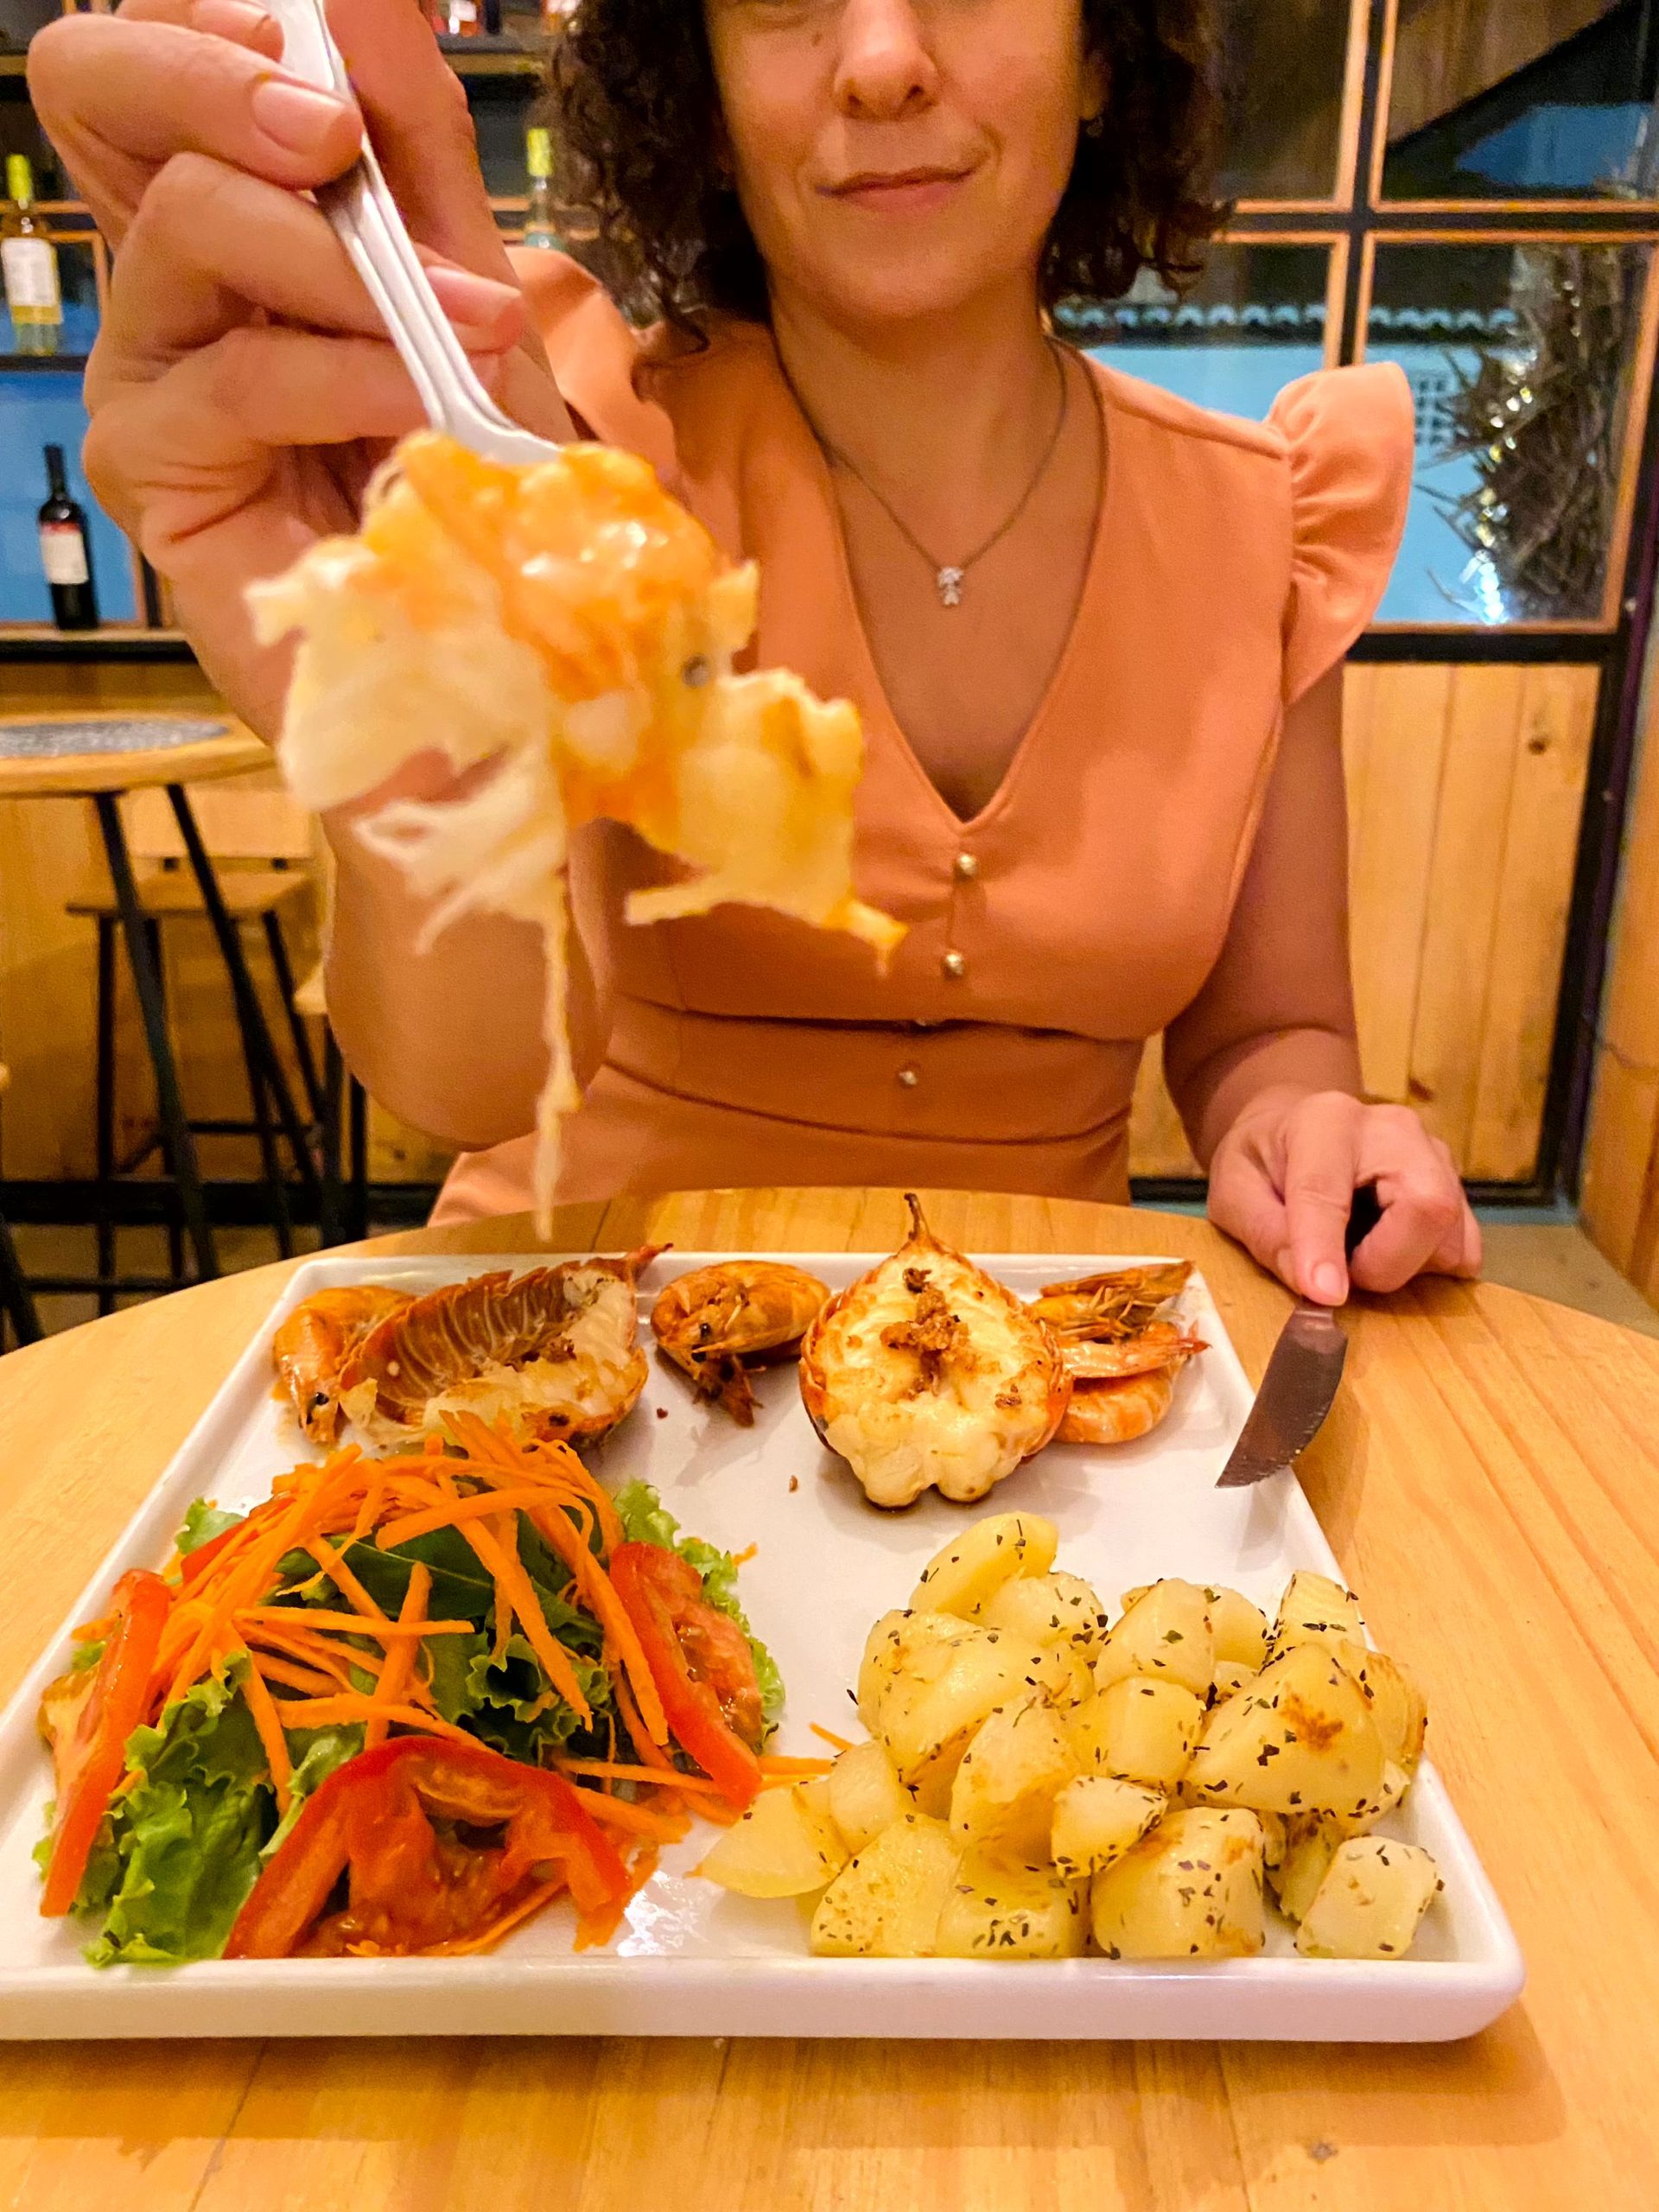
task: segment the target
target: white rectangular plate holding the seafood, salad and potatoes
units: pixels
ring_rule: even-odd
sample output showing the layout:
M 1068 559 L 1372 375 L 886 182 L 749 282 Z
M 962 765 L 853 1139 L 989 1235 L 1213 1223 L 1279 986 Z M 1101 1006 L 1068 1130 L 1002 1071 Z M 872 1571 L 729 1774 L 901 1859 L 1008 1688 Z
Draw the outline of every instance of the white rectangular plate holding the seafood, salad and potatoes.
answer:
M 723 1254 L 675 1252 L 639 1294 Z M 869 1261 L 790 1254 L 832 1287 Z M 259 1336 L 204 1413 L 73 1619 L 95 1615 L 128 1566 L 155 1566 L 197 1495 L 226 1506 L 265 1498 L 303 1455 L 292 1413 L 270 1394 L 270 1336 L 301 1298 L 334 1283 L 434 1287 L 524 1259 L 319 1259 L 288 1283 Z M 989 1259 L 1022 1294 L 1113 1259 Z M 1060 1566 L 1117 1597 L 1159 1575 L 1228 1582 L 1272 1613 L 1298 1566 L 1338 1575 L 1290 1475 L 1254 1491 L 1214 1480 L 1250 1407 L 1250 1385 L 1203 1279 L 1186 1294 L 1210 1352 L 1181 1376 L 1175 1411 L 1141 1444 L 1051 1447 L 1013 1475 L 995 1506 L 1029 1506 L 1060 1526 Z M 730 1551 L 754 1544 L 743 1604 L 776 1652 L 787 1714 L 774 1750 L 821 1752 L 810 1723 L 858 1734 L 849 1683 L 872 1621 L 902 1606 L 916 1575 L 973 1506 L 929 1495 L 878 1513 L 823 1451 L 792 1367 L 759 1378 L 754 1429 L 692 1402 L 653 1358 L 650 1383 L 593 1467 L 611 1489 L 653 1482 L 688 1533 Z M 1363 1595 L 1363 1593 L 1360 1593 Z M 1270 1951 L 1228 1964 L 1068 1960 L 814 1960 L 805 1907 L 732 1898 L 690 1869 L 712 1829 L 664 1854 L 604 1951 L 575 1953 L 553 1907 L 484 1958 L 276 1960 L 115 1966 L 80 1958 L 82 1931 L 38 1913 L 31 1849 L 49 1767 L 35 1736 L 42 1688 L 69 1661 L 69 1624 L 0 1721 L 0 2035 L 922 2035 L 922 2037 L 1250 2037 L 1272 2042 L 1444 2042 L 1495 2020 L 1524 1980 L 1522 1955 L 1440 1778 L 1425 1767 L 1400 1836 L 1427 1845 L 1444 1876 L 1418 1947 L 1398 1964 L 1301 1960 L 1274 1924 Z M 1409 1652 L 1400 1655 L 1411 1659 Z

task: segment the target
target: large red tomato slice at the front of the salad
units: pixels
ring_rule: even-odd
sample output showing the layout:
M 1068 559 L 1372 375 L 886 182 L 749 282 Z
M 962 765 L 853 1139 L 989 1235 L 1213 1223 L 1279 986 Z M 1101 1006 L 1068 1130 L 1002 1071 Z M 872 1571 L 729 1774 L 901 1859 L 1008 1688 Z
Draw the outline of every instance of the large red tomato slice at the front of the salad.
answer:
M 484 1838 L 480 1829 L 500 1834 Z M 330 1911 L 341 1876 L 347 1900 Z M 305 1801 L 237 1913 L 223 1955 L 409 1955 L 480 1944 L 555 1887 L 568 1887 L 584 1913 L 628 1893 L 615 1845 L 562 1774 L 482 1743 L 394 1736 L 347 1759 Z

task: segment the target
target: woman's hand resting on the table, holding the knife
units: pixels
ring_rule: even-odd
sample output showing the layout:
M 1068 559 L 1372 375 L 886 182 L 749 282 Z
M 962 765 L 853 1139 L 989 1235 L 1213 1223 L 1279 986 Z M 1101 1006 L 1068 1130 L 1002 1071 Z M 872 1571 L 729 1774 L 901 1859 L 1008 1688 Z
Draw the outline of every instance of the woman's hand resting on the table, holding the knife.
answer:
M 1349 1263 L 1354 1192 L 1374 1186 L 1383 1221 Z M 1407 1106 L 1340 1091 L 1252 1099 L 1210 1161 L 1210 1219 L 1303 1298 L 1340 1305 L 1418 1274 L 1480 1274 L 1480 1225 L 1451 1152 Z

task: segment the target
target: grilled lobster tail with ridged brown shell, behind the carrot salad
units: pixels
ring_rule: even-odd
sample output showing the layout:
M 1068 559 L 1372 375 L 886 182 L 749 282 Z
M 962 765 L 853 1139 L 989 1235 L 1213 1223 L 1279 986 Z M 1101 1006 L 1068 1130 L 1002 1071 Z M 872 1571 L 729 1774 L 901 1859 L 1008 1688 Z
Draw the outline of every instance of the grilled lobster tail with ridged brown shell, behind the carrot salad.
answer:
M 635 1279 L 664 1250 L 480 1274 L 369 1329 L 341 1374 L 349 1420 L 376 1442 L 445 1413 L 507 1416 L 524 1436 L 597 1444 L 646 1387 Z

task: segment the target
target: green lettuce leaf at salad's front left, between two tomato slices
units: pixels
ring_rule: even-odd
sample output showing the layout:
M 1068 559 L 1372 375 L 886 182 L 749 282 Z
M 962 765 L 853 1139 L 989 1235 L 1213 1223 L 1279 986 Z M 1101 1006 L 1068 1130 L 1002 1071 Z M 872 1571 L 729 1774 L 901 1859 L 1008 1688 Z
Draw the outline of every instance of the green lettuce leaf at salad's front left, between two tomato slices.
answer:
M 139 1778 L 111 1809 L 75 1911 L 102 1913 L 93 1966 L 217 1958 L 276 1820 L 243 1661 L 195 1683 L 157 1728 L 137 1728 Z

